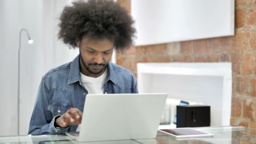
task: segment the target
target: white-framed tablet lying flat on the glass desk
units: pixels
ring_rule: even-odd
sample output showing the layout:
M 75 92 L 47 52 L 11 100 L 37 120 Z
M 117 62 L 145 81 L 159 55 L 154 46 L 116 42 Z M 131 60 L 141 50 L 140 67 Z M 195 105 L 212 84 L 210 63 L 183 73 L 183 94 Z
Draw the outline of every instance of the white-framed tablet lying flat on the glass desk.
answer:
M 175 138 L 213 137 L 213 134 L 211 133 L 199 131 L 194 128 L 159 129 L 158 131 L 173 136 Z

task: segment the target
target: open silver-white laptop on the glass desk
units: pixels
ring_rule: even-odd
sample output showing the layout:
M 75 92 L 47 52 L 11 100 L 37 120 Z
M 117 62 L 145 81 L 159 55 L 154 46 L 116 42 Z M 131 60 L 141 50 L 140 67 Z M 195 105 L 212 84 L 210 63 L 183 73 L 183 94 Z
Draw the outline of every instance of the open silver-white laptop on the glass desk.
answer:
M 80 142 L 155 139 L 166 93 L 88 94 L 80 132 L 67 136 Z

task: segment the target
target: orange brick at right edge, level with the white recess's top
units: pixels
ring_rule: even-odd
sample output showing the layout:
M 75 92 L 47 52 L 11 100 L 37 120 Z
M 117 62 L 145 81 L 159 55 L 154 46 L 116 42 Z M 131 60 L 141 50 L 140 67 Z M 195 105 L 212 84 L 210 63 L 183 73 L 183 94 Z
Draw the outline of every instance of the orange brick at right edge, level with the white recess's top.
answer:
M 242 61 L 242 73 L 243 74 L 252 74 L 254 71 L 254 55 L 253 53 L 245 53 L 243 54 Z

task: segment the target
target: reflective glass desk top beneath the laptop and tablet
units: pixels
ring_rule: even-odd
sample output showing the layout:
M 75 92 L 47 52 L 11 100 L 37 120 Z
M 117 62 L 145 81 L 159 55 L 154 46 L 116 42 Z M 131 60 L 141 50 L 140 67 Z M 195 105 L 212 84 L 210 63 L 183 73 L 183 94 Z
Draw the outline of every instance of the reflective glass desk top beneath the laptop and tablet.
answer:
M 213 138 L 175 139 L 158 132 L 156 139 L 83 142 L 81 144 L 253 144 L 256 129 L 241 126 L 204 127 L 200 131 L 213 133 Z M 113 133 L 114 134 L 114 133 Z M 0 136 L 0 144 L 78 144 L 66 135 Z

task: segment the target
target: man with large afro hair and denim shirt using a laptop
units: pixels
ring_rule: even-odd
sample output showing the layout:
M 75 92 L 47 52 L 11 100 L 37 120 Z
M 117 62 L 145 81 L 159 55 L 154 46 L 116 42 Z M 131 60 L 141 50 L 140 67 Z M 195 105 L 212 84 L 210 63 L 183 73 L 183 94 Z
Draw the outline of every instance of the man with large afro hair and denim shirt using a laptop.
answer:
M 109 62 L 113 49 L 132 45 L 133 23 L 112 0 L 79 0 L 64 8 L 59 39 L 80 54 L 42 77 L 29 134 L 77 131 L 88 93 L 138 93 L 133 74 Z

